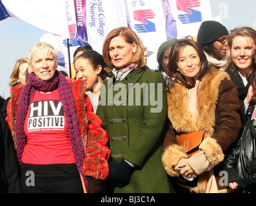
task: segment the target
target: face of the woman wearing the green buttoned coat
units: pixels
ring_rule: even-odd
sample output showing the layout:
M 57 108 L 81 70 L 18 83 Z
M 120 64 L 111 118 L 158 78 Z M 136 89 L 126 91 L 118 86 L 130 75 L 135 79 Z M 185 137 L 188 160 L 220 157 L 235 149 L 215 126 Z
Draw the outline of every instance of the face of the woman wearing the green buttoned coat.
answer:
M 119 69 L 126 68 L 136 52 L 137 46 L 133 42 L 130 44 L 124 40 L 122 36 L 113 37 L 110 41 L 109 55 L 112 64 Z

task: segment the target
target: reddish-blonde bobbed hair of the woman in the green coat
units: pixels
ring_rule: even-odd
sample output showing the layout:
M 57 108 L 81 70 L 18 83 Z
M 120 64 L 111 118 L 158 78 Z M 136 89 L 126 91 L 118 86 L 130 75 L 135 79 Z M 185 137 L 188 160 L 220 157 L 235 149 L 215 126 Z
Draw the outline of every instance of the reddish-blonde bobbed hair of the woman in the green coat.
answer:
M 104 40 L 103 44 L 103 59 L 107 64 L 106 70 L 111 73 L 114 66 L 111 61 L 110 55 L 109 55 L 109 46 L 110 46 L 110 41 L 114 37 L 122 36 L 124 38 L 124 41 L 128 42 L 129 44 L 133 44 L 133 42 L 137 46 L 137 51 L 133 55 L 133 58 L 130 60 L 129 64 L 131 63 L 136 63 L 137 68 L 141 70 L 137 71 L 143 71 L 146 70 L 146 60 L 144 58 L 144 47 L 143 43 L 141 42 L 141 39 L 137 36 L 133 30 L 127 27 L 119 27 L 115 28 L 112 30 L 108 35 L 106 36 L 106 39 Z

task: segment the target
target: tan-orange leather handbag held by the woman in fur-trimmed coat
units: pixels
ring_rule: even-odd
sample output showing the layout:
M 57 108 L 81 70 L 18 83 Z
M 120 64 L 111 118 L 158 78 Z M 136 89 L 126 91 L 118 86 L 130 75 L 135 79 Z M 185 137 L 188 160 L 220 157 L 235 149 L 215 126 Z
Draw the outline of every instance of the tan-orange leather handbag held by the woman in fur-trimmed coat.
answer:
M 185 153 L 192 156 L 195 153 L 199 153 L 199 145 L 204 138 L 209 136 L 207 131 L 193 131 L 192 133 L 177 135 L 177 141 L 184 148 Z

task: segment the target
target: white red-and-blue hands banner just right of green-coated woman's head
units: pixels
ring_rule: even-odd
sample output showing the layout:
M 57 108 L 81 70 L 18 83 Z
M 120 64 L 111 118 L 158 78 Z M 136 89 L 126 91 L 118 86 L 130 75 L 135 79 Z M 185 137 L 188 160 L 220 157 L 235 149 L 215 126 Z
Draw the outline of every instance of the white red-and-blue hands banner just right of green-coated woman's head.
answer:
M 139 37 L 144 46 L 151 53 L 148 57 L 148 67 L 155 70 L 157 64 L 157 50 L 166 41 L 166 8 L 162 0 L 134 1 L 126 0 L 129 26 Z

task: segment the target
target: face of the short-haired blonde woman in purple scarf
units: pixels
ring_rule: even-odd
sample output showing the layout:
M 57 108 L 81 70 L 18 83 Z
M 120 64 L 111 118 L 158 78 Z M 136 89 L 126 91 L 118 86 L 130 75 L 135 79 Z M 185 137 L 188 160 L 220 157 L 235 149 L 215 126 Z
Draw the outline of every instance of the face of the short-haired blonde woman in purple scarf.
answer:
M 31 68 L 38 79 L 48 81 L 54 77 L 57 63 L 52 53 L 39 50 L 33 54 Z

